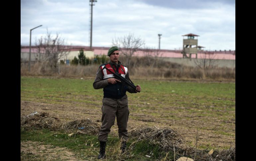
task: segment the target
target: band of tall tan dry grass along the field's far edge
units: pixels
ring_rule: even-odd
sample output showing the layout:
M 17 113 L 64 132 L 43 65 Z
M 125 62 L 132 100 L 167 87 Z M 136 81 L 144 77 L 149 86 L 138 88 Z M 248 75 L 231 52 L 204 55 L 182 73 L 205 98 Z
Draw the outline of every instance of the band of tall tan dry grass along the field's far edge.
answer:
M 121 61 L 121 60 L 120 60 Z M 122 62 L 122 61 L 121 61 Z M 125 61 L 123 61 L 125 62 Z M 60 65 L 60 69 L 51 69 L 47 63 L 35 63 L 28 66 L 21 64 L 21 75 L 33 76 L 57 76 L 57 77 L 95 77 L 99 64 L 87 66 Z M 175 78 L 175 79 L 212 79 L 212 80 L 235 80 L 235 68 L 201 69 L 198 67 L 184 66 L 163 60 L 150 60 L 145 57 L 133 57 L 129 66 L 130 76 L 133 78 Z

